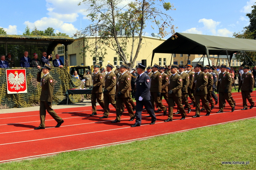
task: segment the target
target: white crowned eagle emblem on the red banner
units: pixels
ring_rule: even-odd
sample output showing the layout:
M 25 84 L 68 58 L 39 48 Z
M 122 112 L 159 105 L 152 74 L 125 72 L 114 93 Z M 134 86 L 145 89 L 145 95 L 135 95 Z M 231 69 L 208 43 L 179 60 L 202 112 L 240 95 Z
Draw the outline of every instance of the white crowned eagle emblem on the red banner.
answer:
M 24 73 L 20 73 L 18 75 L 18 71 L 15 71 L 13 73 L 9 73 L 8 75 L 8 82 L 9 84 L 13 85 L 11 86 L 11 89 L 19 90 L 20 88 L 23 88 L 22 84 L 25 82 L 25 75 Z

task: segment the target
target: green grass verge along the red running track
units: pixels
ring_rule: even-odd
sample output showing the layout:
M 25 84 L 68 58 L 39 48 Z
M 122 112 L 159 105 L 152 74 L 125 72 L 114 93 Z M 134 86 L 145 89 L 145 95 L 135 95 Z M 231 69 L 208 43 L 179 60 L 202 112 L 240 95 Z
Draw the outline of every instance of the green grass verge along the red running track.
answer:
M 3 163 L 0 169 L 252 170 L 256 169 L 255 134 L 256 119 L 248 119 L 122 145 Z M 221 161 L 250 164 L 223 165 Z

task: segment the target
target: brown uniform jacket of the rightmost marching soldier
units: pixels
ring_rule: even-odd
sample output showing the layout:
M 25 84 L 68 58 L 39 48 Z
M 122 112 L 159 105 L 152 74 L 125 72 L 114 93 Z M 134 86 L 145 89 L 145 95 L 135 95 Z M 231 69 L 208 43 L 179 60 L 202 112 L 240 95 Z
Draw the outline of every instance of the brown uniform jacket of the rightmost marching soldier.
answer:
M 242 91 L 250 91 L 250 89 L 253 89 L 253 85 L 254 85 L 254 78 L 253 78 L 253 74 L 247 72 L 246 74 L 242 74 L 241 76 L 241 81 L 239 83 L 239 89 L 241 89 Z

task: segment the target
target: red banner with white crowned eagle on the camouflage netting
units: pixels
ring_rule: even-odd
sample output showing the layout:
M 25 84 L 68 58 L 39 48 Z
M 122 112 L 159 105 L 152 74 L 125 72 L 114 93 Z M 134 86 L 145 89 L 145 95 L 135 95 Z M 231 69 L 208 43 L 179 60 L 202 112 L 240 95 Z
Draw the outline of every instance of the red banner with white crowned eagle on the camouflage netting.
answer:
M 26 69 L 6 70 L 7 94 L 27 92 Z

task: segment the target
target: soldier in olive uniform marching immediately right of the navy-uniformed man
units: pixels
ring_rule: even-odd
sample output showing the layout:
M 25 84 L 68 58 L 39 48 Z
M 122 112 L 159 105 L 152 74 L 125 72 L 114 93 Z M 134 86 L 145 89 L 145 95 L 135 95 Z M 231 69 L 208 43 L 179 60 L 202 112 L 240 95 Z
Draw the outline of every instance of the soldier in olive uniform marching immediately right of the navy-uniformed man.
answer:
M 150 94 L 151 94 L 151 104 L 154 107 L 155 104 L 163 110 L 163 114 L 166 115 L 166 107 L 163 105 L 162 101 L 160 100 L 160 95 L 162 91 L 162 75 L 158 72 L 160 66 L 154 64 L 152 67 L 153 74 L 151 76 L 151 85 L 150 85 Z M 154 104 L 155 103 L 155 104 Z

